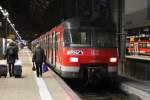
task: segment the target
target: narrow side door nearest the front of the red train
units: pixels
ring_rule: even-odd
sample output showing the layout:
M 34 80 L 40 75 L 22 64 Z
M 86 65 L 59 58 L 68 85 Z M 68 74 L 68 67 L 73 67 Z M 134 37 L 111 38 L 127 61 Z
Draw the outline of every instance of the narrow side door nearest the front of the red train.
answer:
M 56 33 L 52 33 L 52 65 L 56 65 Z

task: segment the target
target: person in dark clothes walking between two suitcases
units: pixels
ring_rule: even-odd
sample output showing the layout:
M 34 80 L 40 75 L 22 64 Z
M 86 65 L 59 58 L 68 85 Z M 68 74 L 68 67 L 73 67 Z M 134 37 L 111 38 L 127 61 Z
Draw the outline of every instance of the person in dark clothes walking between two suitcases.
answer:
M 9 75 L 10 77 L 12 77 L 14 73 L 14 63 L 15 63 L 15 60 L 18 59 L 18 52 L 13 42 L 9 44 L 4 58 L 7 59 Z

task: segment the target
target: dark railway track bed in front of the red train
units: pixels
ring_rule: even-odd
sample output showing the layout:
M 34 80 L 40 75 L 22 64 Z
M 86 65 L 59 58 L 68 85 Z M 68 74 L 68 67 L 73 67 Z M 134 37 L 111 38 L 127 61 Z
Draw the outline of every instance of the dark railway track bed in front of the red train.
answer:
M 110 84 L 81 85 L 78 81 L 66 81 L 82 100 L 141 100 L 138 96 L 125 93 Z

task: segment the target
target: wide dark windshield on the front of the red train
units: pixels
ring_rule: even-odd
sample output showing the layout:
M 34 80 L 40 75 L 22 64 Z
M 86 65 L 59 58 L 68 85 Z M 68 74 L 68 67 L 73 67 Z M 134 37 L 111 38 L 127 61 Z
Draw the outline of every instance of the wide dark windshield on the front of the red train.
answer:
M 116 36 L 99 30 L 65 30 L 65 47 L 116 47 Z

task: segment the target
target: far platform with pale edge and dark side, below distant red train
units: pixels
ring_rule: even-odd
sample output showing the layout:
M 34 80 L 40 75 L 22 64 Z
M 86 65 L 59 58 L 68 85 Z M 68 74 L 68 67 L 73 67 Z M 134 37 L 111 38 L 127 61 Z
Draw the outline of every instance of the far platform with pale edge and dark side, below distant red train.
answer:
M 124 73 L 140 80 L 150 80 L 150 56 L 127 55 Z

